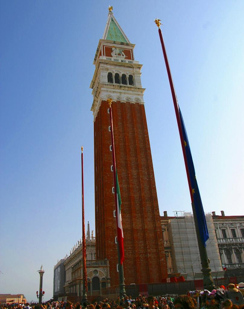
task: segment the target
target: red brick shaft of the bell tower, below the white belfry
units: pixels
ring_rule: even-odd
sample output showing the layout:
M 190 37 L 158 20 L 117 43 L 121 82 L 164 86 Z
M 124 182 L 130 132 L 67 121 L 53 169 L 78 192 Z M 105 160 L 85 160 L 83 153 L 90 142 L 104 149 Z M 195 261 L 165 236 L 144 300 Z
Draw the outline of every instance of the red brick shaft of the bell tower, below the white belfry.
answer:
M 94 122 L 96 252 L 109 259 L 111 286 L 118 284 L 116 219 L 109 105 Z M 144 105 L 112 104 L 115 156 L 121 191 L 125 283 L 161 282 L 167 277 L 160 214 Z

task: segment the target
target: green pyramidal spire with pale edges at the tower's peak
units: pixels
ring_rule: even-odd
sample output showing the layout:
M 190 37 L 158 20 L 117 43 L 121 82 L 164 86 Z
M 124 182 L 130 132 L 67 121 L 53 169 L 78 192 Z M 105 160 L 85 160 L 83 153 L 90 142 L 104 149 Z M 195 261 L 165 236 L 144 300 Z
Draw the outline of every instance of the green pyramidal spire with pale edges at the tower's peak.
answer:
M 112 40 L 123 43 L 130 43 L 129 39 L 123 32 L 119 23 L 113 16 L 113 12 L 109 11 L 106 28 L 103 34 L 103 40 Z

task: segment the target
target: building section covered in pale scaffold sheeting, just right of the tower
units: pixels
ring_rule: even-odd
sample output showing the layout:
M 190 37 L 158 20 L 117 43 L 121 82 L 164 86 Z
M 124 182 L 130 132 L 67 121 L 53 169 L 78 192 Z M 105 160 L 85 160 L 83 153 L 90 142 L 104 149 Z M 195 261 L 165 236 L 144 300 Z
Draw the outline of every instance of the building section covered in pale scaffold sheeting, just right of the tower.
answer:
M 224 277 L 213 219 L 211 214 L 205 214 L 205 217 L 209 234 L 207 253 L 212 276 Z M 174 217 L 168 217 L 165 211 L 161 217 L 161 227 L 169 276 L 183 276 L 186 280 L 202 279 L 193 214 L 175 212 Z

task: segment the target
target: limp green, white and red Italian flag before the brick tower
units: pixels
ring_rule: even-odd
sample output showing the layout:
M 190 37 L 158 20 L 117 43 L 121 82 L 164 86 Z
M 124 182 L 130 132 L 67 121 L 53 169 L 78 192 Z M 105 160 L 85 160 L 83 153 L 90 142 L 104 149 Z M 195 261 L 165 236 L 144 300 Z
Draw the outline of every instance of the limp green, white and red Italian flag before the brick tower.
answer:
M 116 222 L 117 222 L 117 239 L 119 244 L 119 254 L 120 254 L 120 264 L 123 264 L 124 261 L 124 236 L 123 236 L 123 229 L 122 229 L 122 219 L 121 219 L 121 196 L 119 191 L 119 181 L 118 181 L 118 174 L 116 168 Z

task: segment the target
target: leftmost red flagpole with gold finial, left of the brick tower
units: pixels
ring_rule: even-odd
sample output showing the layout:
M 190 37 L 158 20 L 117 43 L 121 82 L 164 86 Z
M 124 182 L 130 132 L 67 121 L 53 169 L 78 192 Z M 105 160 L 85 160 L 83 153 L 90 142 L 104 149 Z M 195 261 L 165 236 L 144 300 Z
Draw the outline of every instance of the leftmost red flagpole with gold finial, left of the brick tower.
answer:
M 83 146 L 81 147 L 81 186 L 82 186 L 82 258 L 83 258 L 83 290 L 87 288 L 86 270 L 86 234 L 85 234 L 85 211 L 84 211 L 84 169 L 83 169 Z M 83 291 L 84 294 L 84 291 Z

